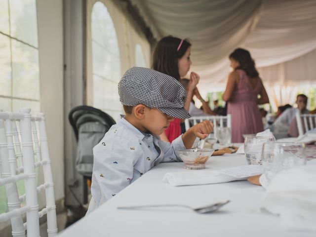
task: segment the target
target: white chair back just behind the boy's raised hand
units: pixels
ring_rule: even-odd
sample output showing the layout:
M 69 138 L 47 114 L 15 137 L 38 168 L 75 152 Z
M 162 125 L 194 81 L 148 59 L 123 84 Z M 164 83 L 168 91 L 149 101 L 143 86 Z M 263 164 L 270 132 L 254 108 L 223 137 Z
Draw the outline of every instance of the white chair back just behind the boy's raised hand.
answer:
M 184 123 L 186 131 L 190 128 L 191 125 L 196 125 L 198 122 L 203 120 L 210 120 L 214 124 L 214 137 L 216 137 L 216 127 L 232 127 L 232 116 L 195 116 L 187 118 Z

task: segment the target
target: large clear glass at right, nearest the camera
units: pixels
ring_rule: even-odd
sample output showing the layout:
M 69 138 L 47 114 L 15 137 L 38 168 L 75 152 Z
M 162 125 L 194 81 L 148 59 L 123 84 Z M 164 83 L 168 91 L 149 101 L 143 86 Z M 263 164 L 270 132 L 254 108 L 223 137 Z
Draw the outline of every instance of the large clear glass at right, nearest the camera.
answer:
M 262 166 L 268 184 L 276 173 L 304 165 L 306 160 L 304 143 L 271 142 L 265 143 L 262 148 Z

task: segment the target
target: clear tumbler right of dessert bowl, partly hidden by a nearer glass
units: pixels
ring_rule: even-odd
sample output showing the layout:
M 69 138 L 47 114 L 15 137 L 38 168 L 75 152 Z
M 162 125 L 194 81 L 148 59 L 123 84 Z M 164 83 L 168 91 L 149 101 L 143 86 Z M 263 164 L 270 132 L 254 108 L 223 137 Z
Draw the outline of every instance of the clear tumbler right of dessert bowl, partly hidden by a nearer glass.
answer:
M 261 164 L 262 146 L 265 142 L 273 142 L 273 137 L 246 137 L 244 152 L 248 164 Z

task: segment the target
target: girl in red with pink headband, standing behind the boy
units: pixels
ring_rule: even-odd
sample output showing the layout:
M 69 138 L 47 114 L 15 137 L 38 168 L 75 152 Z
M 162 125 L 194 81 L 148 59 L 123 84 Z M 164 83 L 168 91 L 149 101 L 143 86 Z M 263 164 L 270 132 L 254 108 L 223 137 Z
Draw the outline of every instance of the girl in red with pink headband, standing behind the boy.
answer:
M 169 75 L 178 81 L 187 75 L 192 64 L 190 59 L 191 43 L 176 37 L 167 36 L 158 41 L 153 55 L 153 69 Z M 187 87 L 187 100 L 184 108 L 189 111 L 194 89 L 198 83 L 199 76 L 192 72 Z M 172 142 L 181 135 L 181 119 L 175 118 L 169 127 L 160 135 L 161 140 Z

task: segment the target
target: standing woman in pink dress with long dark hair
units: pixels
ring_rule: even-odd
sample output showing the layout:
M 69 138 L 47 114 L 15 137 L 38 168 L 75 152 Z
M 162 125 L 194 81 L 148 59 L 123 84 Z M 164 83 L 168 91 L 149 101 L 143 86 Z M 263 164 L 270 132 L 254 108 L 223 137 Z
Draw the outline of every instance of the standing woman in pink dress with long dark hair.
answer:
M 269 98 L 249 51 L 237 48 L 229 59 L 234 71 L 228 77 L 223 100 L 228 103 L 227 114 L 232 115 L 232 142 L 243 142 L 242 134 L 263 131 L 258 105 L 269 103 Z

